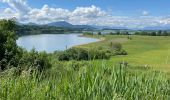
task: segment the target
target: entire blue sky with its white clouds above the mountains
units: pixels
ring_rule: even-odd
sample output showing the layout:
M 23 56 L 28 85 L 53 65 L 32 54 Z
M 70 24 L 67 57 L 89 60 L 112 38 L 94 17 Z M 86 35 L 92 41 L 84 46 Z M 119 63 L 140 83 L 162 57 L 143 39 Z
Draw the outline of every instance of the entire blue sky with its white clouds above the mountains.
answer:
M 120 27 L 170 23 L 170 0 L 0 0 L 0 18 Z

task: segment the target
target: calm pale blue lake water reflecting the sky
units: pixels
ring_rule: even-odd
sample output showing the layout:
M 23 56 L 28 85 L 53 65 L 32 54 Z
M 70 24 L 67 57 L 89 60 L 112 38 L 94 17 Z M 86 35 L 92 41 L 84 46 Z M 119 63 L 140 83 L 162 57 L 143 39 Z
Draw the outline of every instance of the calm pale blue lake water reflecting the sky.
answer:
M 99 39 L 80 37 L 80 34 L 42 34 L 19 37 L 17 44 L 30 51 L 35 48 L 37 51 L 48 53 L 56 50 L 65 50 L 76 45 L 97 42 Z

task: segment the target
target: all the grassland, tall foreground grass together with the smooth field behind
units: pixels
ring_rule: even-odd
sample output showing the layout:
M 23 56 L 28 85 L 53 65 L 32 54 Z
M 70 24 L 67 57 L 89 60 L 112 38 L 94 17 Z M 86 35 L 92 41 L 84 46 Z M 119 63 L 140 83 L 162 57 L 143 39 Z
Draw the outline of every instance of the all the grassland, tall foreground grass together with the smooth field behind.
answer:
M 0 100 L 169 100 L 170 79 L 164 72 L 170 71 L 170 37 L 93 37 L 102 41 L 78 47 L 119 42 L 128 55 L 90 61 L 58 61 L 50 55 L 52 67 L 42 73 L 0 77 Z

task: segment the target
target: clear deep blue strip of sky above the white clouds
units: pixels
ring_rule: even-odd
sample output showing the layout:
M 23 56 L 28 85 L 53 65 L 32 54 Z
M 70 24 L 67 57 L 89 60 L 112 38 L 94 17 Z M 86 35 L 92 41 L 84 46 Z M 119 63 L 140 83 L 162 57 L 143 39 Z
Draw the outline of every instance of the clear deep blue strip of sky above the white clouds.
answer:
M 140 15 L 149 11 L 155 16 L 170 14 L 170 0 L 28 0 L 32 7 L 41 8 L 44 4 L 74 10 L 76 7 L 95 5 L 103 10 L 112 10 L 117 15 Z

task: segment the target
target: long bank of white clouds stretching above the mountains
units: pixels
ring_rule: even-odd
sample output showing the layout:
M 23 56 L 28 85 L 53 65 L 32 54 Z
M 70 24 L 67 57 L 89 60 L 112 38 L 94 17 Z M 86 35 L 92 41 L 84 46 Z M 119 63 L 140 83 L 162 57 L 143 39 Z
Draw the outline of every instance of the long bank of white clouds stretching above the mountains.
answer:
M 100 7 L 94 5 L 89 7 L 77 7 L 74 10 L 49 7 L 32 8 L 26 0 L 0 0 L 0 3 L 7 3 L 9 8 L 0 11 L 0 18 L 16 17 L 21 22 L 49 23 L 65 20 L 72 24 L 90 24 L 101 26 L 117 26 L 129 28 L 143 28 L 170 24 L 170 17 L 149 16 L 148 11 L 143 11 L 142 16 L 128 17 L 115 16 Z

